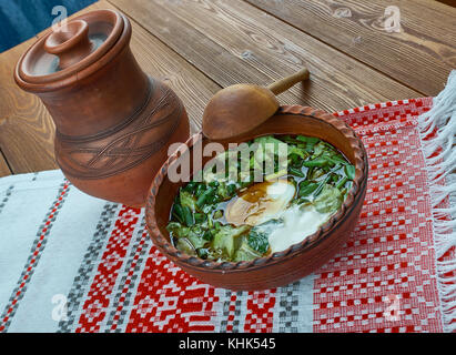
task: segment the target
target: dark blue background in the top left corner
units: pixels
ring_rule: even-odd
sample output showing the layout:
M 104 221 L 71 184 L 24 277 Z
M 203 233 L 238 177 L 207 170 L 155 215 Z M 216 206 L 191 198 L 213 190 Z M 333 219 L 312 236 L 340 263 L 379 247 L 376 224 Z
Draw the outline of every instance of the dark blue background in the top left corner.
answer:
M 64 6 L 68 16 L 95 0 L 0 0 L 0 53 L 52 26 L 52 8 Z

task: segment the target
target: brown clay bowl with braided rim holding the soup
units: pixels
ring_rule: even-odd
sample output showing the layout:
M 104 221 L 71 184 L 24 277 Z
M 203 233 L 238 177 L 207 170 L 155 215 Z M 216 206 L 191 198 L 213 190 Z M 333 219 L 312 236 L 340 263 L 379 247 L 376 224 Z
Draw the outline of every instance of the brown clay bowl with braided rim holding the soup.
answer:
M 166 231 L 170 211 L 184 182 L 174 183 L 168 176 L 169 168 L 179 160 L 192 156 L 196 146 L 204 148 L 210 140 L 196 134 L 186 142 L 183 152 L 174 153 L 155 176 L 146 201 L 145 217 L 149 234 L 155 246 L 176 265 L 204 283 L 230 290 L 265 290 L 284 286 L 316 271 L 337 253 L 355 227 L 366 194 L 367 155 L 362 141 L 341 119 L 305 106 L 282 106 L 276 114 L 254 131 L 231 142 L 240 143 L 267 134 L 304 134 L 317 136 L 337 148 L 356 168 L 353 186 L 340 211 L 320 230 L 283 252 L 251 262 L 204 261 L 186 255 L 170 242 Z M 221 142 L 227 148 L 230 142 Z M 203 160 L 203 163 L 211 158 Z M 191 160 L 189 178 L 192 171 Z M 190 181 L 188 179 L 186 181 Z

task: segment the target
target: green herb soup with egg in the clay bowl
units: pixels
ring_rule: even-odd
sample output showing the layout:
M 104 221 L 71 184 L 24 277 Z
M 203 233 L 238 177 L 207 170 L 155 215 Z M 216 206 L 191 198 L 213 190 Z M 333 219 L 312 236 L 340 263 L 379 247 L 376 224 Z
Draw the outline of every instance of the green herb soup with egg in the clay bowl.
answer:
M 180 189 L 168 225 L 176 248 L 204 260 L 251 261 L 273 252 L 268 239 L 288 223 L 284 211 L 296 206 L 303 211 L 303 216 L 311 212 L 322 215 L 326 219 L 322 220 L 324 223 L 341 207 L 354 180 L 355 166 L 331 144 L 304 135 L 262 136 L 247 145 L 253 146 L 253 143 L 263 150 L 263 161 L 252 152 L 246 162 L 247 172 L 240 170 L 245 162 L 230 161 L 229 151 L 216 158 L 226 166 L 231 164 L 223 175 L 209 171 L 203 182 L 192 181 Z M 278 159 L 278 146 L 284 143 L 285 165 Z M 255 183 L 255 174 L 264 161 L 274 162 L 274 171 L 261 172 L 266 182 Z M 282 183 L 280 187 L 286 185 L 288 194 L 278 215 L 264 214 L 262 219 L 253 219 L 257 216 L 252 214 L 251 220 L 244 220 L 249 223 L 241 223 L 230 215 L 234 206 L 242 212 L 257 205 L 260 200 L 252 199 L 264 199 L 265 205 L 271 204 L 267 193 L 271 185 L 277 187 L 276 182 Z M 274 209 L 276 205 L 271 204 Z

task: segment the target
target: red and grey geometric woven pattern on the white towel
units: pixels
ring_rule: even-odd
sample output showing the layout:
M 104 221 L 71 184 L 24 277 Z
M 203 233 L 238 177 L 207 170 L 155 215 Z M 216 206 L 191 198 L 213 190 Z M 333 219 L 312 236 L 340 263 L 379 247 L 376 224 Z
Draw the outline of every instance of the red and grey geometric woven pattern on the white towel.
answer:
M 334 257 L 284 287 L 232 292 L 206 285 L 153 245 L 144 211 L 114 203 L 100 216 L 67 295 L 59 332 L 442 332 L 433 212 L 417 116 L 432 99 L 336 112 L 363 140 L 369 161 L 356 227 Z M 8 331 L 33 280 L 70 184 L 40 225 L 4 308 Z M 0 210 L 16 190 L 11 186 Z M 8 205 L 7 207 L 8 209 Z M 1 212 L 1 211 L 0 211 Z

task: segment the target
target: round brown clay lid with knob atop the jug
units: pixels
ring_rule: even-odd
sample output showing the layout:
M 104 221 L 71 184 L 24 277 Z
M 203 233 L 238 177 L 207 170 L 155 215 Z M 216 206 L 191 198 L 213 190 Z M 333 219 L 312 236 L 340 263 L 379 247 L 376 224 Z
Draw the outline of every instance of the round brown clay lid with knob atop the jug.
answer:
M 122 38 L 128 43 L 130 36 L 128 20 L 114 10 L 95 10 L 55 24 L 20 58 L 16 81 L 30 91 L 61 88 L 100 69 L 112 58 L 103 57 Z M 95 62 L 101 63 L 92 65 Z

